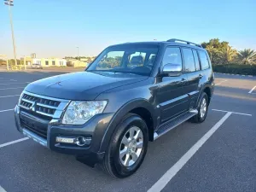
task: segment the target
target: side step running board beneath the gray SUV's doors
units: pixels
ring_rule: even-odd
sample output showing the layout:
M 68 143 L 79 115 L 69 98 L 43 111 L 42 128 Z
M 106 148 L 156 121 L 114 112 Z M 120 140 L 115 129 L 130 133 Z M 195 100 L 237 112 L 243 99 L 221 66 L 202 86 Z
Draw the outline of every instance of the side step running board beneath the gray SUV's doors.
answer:
M 177 118 L 167 121 L 165 124 L 160 125 L 160 128 L 154 132 L 154 140 L 161 137 L 162 135 L 166 134 L 166 132 L 171 131 L 173 128 L 177 127 L 177 125 L 182 124 L 186 120 L 190 119 L 191 117 L 195 116 L 198 113 L 197 109 L 190 110 L 186 113 L 183 113 Z

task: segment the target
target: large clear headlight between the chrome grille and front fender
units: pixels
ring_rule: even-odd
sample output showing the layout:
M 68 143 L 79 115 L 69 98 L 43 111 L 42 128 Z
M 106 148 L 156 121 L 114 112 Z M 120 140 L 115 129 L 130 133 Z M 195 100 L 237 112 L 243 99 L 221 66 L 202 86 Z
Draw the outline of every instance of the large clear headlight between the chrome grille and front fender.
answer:
M 106 107 L 106 101 L 70 102 L 62 119 L 62 124 L 83 125 Z

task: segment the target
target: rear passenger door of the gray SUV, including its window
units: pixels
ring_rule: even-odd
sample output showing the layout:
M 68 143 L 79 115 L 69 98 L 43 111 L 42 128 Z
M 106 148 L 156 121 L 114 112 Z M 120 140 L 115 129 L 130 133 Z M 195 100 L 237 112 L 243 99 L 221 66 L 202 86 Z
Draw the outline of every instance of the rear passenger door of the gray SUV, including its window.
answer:
M 199 84 L 202 78 L 200 63 L 195 49 L 183 48 L 183 63 L 188 80 L 186 90 L 189 95 L 189 108 L 195 108 L 200 94 Z

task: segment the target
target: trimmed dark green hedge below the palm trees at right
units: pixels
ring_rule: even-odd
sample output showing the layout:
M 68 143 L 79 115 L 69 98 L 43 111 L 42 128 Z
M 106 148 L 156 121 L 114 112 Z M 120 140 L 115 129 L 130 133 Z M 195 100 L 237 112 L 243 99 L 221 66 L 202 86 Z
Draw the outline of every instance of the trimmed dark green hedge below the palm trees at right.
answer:
M 212 66 L 213 71 L 217 73 L 256 75 L 256 65 L 244 64 L 225 64 Z

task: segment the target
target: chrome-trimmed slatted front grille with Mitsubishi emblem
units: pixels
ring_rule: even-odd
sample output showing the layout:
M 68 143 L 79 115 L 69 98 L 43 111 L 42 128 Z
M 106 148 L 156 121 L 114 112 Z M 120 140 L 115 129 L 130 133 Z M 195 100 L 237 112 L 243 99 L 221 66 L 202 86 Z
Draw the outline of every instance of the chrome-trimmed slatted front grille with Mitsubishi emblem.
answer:
M 19 107 L 34 113 L 59 119 L 69 102 L 68 100 L 40 96 L 24 90 L 20 96 Z

